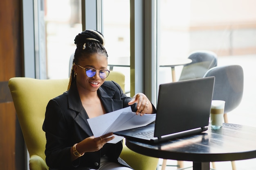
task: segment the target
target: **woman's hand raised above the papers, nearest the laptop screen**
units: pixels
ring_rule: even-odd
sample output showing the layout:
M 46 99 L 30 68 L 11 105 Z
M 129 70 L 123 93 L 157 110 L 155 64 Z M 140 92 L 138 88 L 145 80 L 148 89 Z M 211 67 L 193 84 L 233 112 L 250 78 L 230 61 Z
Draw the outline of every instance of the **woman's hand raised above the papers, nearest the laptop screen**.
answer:
M 128 102 L 128 105 L 133 105 L 134 103 L 137 104 L 137 111 L 136 114 L 140 116 L 143 116 L 145 113 L 148 113 L 148 109 L 152 112 L 152 105 L 151 102 L 148 100 L 147 96 L 143 93 L 137 93 L 135 96 L 133 96 L 132 100 Z

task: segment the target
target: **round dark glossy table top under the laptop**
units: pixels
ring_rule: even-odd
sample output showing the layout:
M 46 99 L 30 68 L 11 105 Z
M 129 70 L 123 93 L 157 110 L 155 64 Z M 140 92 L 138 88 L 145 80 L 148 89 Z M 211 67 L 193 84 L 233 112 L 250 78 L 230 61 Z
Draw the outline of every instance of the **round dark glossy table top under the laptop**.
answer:
M 159 144 L 126 139 L 131 150 L 151 157 L 182 161 L 235 161 L 256 158 L 256 128 L 223 123 L 202 133 Z

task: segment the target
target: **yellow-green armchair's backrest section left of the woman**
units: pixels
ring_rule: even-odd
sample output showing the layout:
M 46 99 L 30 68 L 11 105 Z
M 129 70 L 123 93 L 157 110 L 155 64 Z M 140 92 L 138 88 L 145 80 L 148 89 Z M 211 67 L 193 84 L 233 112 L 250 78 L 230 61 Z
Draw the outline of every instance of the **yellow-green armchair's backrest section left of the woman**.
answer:
M 42 126 L 46 105 L 50 99 L 67 90 L 68 81 L 68 78 L 39 80 L 25 77 L 15 77 L 9 80 L 9 89 L 29 152 L 29 166 L 31 167 L 34 166 L 31 158 L 35 156 L 42 158 L 45 163 L 46 138 Z M 48 169 L 46 163 L 43 166 Z

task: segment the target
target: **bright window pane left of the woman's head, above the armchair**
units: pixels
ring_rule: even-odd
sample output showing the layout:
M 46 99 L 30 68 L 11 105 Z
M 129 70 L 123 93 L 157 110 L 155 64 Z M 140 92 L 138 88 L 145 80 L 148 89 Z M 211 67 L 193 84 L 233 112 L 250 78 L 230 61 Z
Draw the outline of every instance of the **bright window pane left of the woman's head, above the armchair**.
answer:
M 75 36 L 82 31 L 81 0 L 45 1 L 47 78 L 68 78 Z M 61 7 L 60 7 L 61 4 Z

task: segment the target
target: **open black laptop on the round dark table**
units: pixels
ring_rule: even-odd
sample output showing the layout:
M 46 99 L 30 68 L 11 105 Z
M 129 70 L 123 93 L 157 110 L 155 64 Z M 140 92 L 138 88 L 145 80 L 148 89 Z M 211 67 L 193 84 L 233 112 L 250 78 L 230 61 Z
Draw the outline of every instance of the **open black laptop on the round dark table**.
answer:
M 114 132 L 140 142 L 158 143 L 208 129 L 215 77 L 159 85 L 154 123 Z

